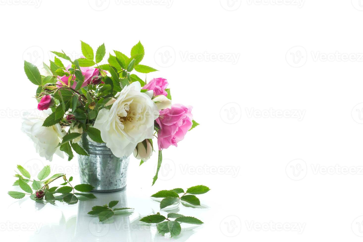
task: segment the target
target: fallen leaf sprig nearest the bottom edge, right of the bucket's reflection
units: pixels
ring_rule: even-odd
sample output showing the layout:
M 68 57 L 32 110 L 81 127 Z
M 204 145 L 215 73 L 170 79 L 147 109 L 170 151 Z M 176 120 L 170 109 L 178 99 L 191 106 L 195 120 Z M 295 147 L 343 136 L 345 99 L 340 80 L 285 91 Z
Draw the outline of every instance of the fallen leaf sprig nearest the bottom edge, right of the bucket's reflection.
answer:
M 170 218 L 175 218 L 175 219 L 170 220 Z M 168 213 L 167 217 L 161 215 L 160 213 L 151 214 L 141 218 L 140 221 L 149 224 L 157 224 L 156 228 L 158 228 L 159 234 L 165 235 L 166 233 L 170 233 L 171 237 L 175 237 L 180 234 L 181 232 L 180 223 L 197 224 L 197 225 L 203 224 L 202 221 L 200 221 L 195 217 L 184 216 L 179 213 Z

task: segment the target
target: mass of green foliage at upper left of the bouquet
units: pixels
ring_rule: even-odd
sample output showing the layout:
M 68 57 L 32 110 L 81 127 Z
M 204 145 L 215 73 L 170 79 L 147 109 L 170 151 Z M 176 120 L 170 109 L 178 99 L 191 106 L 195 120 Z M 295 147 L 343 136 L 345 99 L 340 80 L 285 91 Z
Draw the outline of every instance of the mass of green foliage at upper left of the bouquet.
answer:
M 24 61 L 24 71 L 30 82 L 38 86 L 36 91 L 38 101 L 44 95 L 54 98 L 52 113 L 45 119 L 43 126 L 49 127 L 59 123 L 62 126 L 70 126 L 70 130 L 75 126 L 82 127 L 83 133 L 87 133 L 93 141 L 102 143 L 100 131 L 92 127 L 99 110 L 110 108 L 108 102 L 126 85 L 132 82 L 140 82 L 141 86 L 145 84 L 139 76 L 131 74 L 131 71 L 149 73 L 157 70 L 140 64 L 145 55 L 140 41 L 132 47 L 130 57 L 114 50 L 115 55 L 109 55 L 107 64 L 99 64 L 106 55 L 105 44 L 100 45 L 94 54 L 92 47 L 81 41 L 81 50 L 84 58 L 76 60 L 72 60 L 64 51 L 52 51 L 56 55 L 54 60 L 50 60 L 49 66 L 43 63 L 48 76 L 42 76 L 38 68 L 27 61 Z M 70 62 L 71 67 L 67 68 L 60 58 Z M 98 68 L 100 72 L 99 76 L 93 77 L 97 82 L 90 82 L 82 87 L 85 76 L 81 67 L 92 66 Z M 110 76 L 107 76 L 107 72 Z M 61 85 L 56 85 L 57 81 L 61 81 L 60 77 L 64 76 L 68 77 L 68 84 L 61 82 Z M 66 119 L 66 115 L 70 115 L 72 119 Z M 81 146 L 72 142 L 82 134 L 70 133 L 70 130 L 58 145 L 60 150 L 68 155 L 68 160 L 73 158 L 73 151 L 80 155 L 88 155 Z

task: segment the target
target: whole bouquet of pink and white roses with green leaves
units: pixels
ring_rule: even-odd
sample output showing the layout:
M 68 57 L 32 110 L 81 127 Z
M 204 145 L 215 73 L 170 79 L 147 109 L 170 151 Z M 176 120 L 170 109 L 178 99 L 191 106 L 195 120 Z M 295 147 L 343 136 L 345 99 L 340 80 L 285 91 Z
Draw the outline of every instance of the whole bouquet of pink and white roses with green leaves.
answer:
M 23 131 L 34 142 L 37 153 L 50 161 L 53 154 L 63 158 L 66 153 L 68 160 L 73 158 L 73 151 L 88 155 L 78 145 L 81 135 L 86 134 L 87 139 L 106 143 L 116 157 L 133 153 L 142 164 L 152 155 L 155 136 L 159 158 L 154 184 L 162 150 L 177 146 L 188 130 L 198 125 L 192 118 L 192 107 L 171 104 L 166 79 L 146 82 L 131 74 L 157 71 L 140 64 L 144 57 L 140 42 L 132 47 L 130 57 L 114 51 L 107 64 L 101 64 L 106 55 L 104 44 L 95 55 L 91 46 L 82 41 L 81 49 L 83 56 L 76 60 L 64 51 L 52 51 L 54 61 L 50 60 L 49 66 L 43 64 L 46 75 L 41 75 L 32 63 L 24 62 L 26 76 L 38 86 L 35 97 L 41 112 L 25 118 Z

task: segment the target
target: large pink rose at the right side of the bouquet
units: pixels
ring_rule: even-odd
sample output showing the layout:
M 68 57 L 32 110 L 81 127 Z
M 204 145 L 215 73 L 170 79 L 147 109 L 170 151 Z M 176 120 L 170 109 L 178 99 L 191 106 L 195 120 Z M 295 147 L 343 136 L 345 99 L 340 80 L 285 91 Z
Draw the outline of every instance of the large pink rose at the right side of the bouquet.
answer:
M 171 108 L 160 110 L 160 117 L 156 122 L 160 126 L 158 133 L 159 150 L 169 146 L 178 146 L 177 143 L 184 139 L 184 135 L 192 128 L 192 107 L 173 104 Z

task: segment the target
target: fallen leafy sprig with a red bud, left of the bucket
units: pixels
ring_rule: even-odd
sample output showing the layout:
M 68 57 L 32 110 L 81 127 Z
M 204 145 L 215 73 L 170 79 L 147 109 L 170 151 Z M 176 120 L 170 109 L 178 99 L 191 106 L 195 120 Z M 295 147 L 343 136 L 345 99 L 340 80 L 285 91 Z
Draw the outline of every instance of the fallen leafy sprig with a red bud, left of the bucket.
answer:
M 69 179 L 66 178 L 65 174 L 59 173 L 54 174 L 50 178 L 50 166 L 45 166 L 37 175 L 37 180 L 30 177 L 29 171 L 24 167 L 18 165 L 18 170 L 21 175 L 17 173 L 15 177 L 17 180 L 14 182 L 14 186 L 19 186 L 24 192 L 9 191 L 8 194 L 15 198 L 21 199 L 25 195 L 30 195 L 30 198 L 39 202 L 54 203 L 54 201 L 63 201 L 68 204 L 76 204 L 78 202 L 77 196 L 87 197 L 89 199 L 95 199 L 96 197 L 90 192 L 94 187 L 89 184 L 79 184 L 74 187 L 70 184 L 73 180 L 71 176 Z M 63 178 L 64 183 L 60 184 L 60 187 L 49 187 L 50 183 L 57 180 L 58 178 Z M 28 183 L 32 182 L 32 186 Z M 35 190 L 35 191 L 34 191 Z M 76 192 L 78 191 L 78 192 Z M 37 197 L 37 193 L 38 196 Z M 55 195 L 56 193 L 60 195 Z

